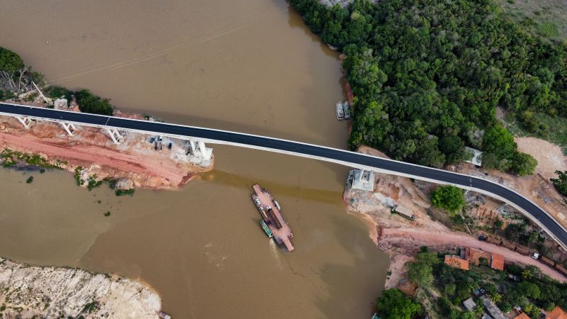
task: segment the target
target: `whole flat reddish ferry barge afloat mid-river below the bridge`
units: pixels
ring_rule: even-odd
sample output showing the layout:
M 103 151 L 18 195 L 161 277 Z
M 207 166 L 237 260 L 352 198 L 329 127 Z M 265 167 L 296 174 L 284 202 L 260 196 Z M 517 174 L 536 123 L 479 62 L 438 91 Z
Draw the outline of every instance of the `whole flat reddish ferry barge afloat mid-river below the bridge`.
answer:
M 291 244 L 291 228 L 289 228 L 286 220 L 281 216 L 281 208 L 279 203 L 274 200 L 267 189 L 262 189 L 258 184 L 252 186 L 254 194 L 252 194 L 252 201 L 258 208 L 262 220 L 260 225 L 268 237 L 273 237 L 278 244 L 286 246 L 289 252 L 295 249 Z

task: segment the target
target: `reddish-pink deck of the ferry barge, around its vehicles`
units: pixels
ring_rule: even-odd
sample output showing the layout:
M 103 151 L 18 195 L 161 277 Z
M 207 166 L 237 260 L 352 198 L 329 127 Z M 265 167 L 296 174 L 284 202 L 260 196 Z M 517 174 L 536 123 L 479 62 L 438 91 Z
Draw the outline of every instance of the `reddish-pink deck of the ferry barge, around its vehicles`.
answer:
M 254 184 L 254 186 L 252 186 L 252 189 L 254 189 L 254 193 L 256 195 L 255 197 L 260 201 L 259 205 L 257 203 L 257 206 L 259 206 L 258 209 L 260 210 L 260 207 L 262 207 L 264 209 L 264 212 L 266 212 L 266 214 L 264 214 L 260 210 L 260 215 L 262 216 L 266 224 L 268 224 L 272 235 L 274 235 L 274 239 L 278 244 L 283 243 L 288 251 L 293 252 L 295 248 L 291 244 L 290 240 L 291 238 L 293 238 L 293 233 L 291 233 L 291 228 L 289 228 L 286 220 L 283 219 L 283 216 L 281 216 L 281 212 L 277 208 L 276 203 L 274 203 L 274 198 L 272 198 L 269 193 L 262 191 L 262 188 L 258 184 Z M 254 198 L 254 196 L 252 198 Z M 277 218 L 279 224 L 281 224 L 280 229 L 276 227 L 276 223 L 271 221 L 271 217 L 269 216 L 270 214 L 267 214 L 267 206 L 270 206 L 271 210 L 274 211 L 274 216 Z

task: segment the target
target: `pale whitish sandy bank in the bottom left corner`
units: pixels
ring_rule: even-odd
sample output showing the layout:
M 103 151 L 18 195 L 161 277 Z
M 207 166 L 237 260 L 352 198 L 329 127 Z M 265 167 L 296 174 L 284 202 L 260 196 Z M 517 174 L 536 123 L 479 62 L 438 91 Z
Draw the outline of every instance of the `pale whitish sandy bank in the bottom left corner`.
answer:
M 0 258 L 0 317 L 158 318 L 155 291 L 130 279 Z

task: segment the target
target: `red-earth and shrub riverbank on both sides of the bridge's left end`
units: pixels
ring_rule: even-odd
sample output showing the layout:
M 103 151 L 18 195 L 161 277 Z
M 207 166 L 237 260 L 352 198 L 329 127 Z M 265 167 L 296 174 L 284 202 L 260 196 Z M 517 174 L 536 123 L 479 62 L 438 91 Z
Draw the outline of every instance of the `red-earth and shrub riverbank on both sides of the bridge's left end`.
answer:
M 31 71 L 18 54 L 3 47 L 0 47 L 0 76 L 0 100 L 159 121 L 147 114 L 123 113 L 108 99 L 86 89 L 71 91 L 62 86 L 50 86 L 43 74 Z M 150 136 L 135 133 L 121 133 L 121 143 L 116 146 L 111 145 L 102 133 L 88 127 L 75 131 L 73 136 L 62 134 L 52 123 L 35 122 L 24 130 L 13 118 L 6 118 L 0 127 L 0 148 L 4 149 L 0 163 L 3 167 L 26 171 L 39 169 L 40 173 L 45 169 L 65 169 L 74 172 L 77 185 L 89 191 L 104 182 L 108 182 L 116 196 L 132 196 L 135 187 L 140 186 L 175 189 L 186 184 L 196 173 L 213 167 L 213 159 L 187 155 L 184 152 L 186 145 L 181 140 L 169 139 L 173 147 L 162 153 L 161 140 L 160 145 L 155 146 L 148 142 L 153 140 Z M 94 148 L 100 151 L 96 152 Z M 28 182 L 31 181 L 33 178 Z

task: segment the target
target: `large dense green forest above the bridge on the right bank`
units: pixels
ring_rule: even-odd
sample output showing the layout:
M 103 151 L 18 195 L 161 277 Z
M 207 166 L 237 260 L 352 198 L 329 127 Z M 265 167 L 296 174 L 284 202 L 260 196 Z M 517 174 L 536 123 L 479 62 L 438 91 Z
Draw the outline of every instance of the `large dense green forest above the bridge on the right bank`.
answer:
M 567 116 L 567 45 L 534 38 L 490 0 L 291 4 L 347 55 L 352 148 L 442 167 L 470 146 L 483 150 L 483 167 L 532 174 L 536 160 L 517 151 L 496 107 L 534 133 L 549 129 L 534 112 Z

